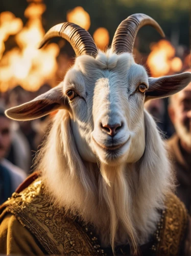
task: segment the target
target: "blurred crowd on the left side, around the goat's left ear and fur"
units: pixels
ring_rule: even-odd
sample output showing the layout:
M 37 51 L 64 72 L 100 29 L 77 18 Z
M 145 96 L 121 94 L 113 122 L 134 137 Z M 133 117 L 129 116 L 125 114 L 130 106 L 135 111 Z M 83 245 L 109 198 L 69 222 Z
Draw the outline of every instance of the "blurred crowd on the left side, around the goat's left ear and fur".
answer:
M 33 172 L 33 159 L 50 120 L 50 116 L 46 116 L 33 121 L 17 122 L 7 118 L 5 110 L 30 101 L 48 90 L 50 86 L 46 84 L 35 93 L 18 86 L 1 94 L 0 204 Z

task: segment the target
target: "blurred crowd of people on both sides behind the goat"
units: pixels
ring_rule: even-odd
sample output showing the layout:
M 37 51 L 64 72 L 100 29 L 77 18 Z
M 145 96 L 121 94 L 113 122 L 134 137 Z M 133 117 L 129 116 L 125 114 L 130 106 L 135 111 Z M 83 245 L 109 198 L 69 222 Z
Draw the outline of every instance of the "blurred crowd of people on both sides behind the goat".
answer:
M 37 92 L 29 92 L 17 86 L 0 97 L 0 204 L 33 172 L 35 153 L 52 118 L 16 122 L 8 119 L 4 111 L 49 89 L 50 86 L 44 84 Z M 191 83 L 178 94 L 151 100 L 145 107 L 154 117 L 168 147 L 177 178 L 176 193 L 191 213 Z

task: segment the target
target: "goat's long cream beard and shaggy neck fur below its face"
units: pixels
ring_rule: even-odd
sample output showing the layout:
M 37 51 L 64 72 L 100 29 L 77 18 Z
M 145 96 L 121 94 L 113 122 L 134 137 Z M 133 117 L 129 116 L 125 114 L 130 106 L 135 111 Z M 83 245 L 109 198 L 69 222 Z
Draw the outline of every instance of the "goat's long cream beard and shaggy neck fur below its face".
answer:
M 57 113 L 36 164 L 57 207 L 93 223 L 102 246 L 148 241 L 172 189 L 173 176 L 162 139 L 145 111 L 146 147 L 136 163 L 109 166 L 83 161 L 66 111 Z M 149 132 L 147 132 L 149 131 Z M 156 146 L 157 145 L 157 146 Z

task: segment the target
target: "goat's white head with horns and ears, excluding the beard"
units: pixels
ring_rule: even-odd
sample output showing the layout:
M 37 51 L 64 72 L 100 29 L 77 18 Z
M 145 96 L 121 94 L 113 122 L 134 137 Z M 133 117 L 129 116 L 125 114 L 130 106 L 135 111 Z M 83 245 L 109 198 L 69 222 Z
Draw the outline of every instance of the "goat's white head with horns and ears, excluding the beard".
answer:
M 63 82 L 34 100 L 6 111 L 15 120 L 31 120 L 58 109 L 70 115 L 78 152 L 84 160 L 108 165 L 132 163 L 145 150 L 144 101 L 182 90 L 191 73 L 152 78 L 131 55 L 138 30 L 154 19 L 133 14 L 118 26 L 111 50 L 99 52 L 90 34 L 73 23 L 51 28 L 40 47 L 59 36 L 68 40 L 77 57 Z

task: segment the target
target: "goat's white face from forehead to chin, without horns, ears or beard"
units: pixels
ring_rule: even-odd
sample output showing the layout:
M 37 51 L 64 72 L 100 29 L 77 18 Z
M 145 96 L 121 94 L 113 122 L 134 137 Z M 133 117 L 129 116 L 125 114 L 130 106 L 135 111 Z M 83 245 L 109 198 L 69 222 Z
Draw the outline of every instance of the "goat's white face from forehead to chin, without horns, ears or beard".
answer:
M 142 156 L 148 86 L 145 69 L 128 53 L 77 58 L 64 79 L 63 93 L 72 98 L 71 128 L 83 159 L 113 165 Z

